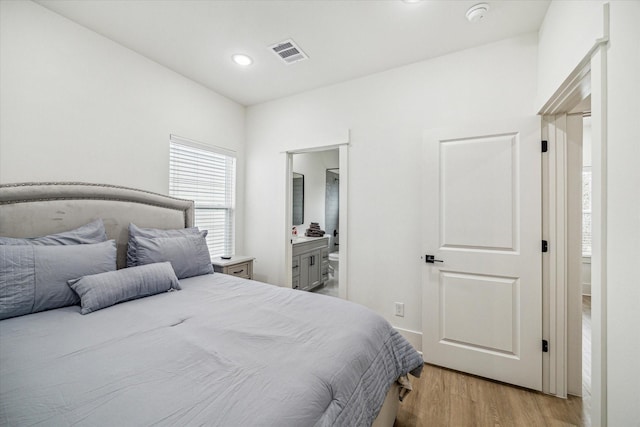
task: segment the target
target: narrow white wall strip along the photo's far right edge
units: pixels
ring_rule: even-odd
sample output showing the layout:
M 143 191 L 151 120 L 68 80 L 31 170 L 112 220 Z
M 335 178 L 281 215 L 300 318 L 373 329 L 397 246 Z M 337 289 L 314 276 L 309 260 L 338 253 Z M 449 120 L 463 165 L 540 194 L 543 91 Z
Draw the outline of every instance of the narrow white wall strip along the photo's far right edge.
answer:
M 610 18 L 611 42 L 607 52 L 607 413 L 610 427 L 638 427 L 640 2 L 611 2 Z

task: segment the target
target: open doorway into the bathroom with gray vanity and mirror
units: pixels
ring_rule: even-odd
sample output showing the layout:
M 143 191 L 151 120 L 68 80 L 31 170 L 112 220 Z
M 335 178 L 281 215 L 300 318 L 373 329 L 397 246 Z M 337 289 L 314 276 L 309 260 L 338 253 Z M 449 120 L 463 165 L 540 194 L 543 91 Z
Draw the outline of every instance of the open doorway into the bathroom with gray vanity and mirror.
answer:
M 313 286 L 316 293 L 347 299 L 348 143 L 291 150 L 286 155 L 285 265 L 288 285 L 297 289 Z M 304 216 L 298 221 L 300 224 L 293 222 L 294 174 L 304 176 Z M 305 279 L 306 267 L 313 267 L 316 259 L 312 258 L 309 266 L 306 263 L 302 266 L 301 256 L 295 256 L 294 252 L 300 252 L 300 244 L 309 246 L 306 240 L 318 238 L 326 241 L 323 245 L 325 257 L 321 255 L 318 261 L 322 283 L 314 286 L 313 268 L 309 269 L 309 281 Z M 296 244 L 299 246 L 294 248 Z

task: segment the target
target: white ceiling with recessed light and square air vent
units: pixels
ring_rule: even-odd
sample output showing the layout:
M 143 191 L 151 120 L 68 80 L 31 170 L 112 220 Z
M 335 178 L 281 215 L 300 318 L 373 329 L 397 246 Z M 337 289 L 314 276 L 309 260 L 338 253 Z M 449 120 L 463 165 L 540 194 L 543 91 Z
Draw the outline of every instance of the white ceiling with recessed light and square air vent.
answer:
M 537 31 L 549 0 L 36 0 L 243 105 Z M 285 64 L 292 38 L 309 56 Z M 231 61 L 246 53 L 253 64 Z

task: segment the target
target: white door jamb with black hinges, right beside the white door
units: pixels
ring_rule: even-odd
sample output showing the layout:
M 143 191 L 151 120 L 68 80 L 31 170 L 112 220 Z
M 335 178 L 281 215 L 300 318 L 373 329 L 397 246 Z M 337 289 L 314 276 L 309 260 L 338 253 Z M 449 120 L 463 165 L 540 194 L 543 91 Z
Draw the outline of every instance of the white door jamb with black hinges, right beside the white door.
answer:
M 582 395 L 581 235 L 582 114 L 542 116 L 543 392 Z M 579 163 L 579 165 L 576 165 Z M 554 309 L 551 309 L 551 308 Z

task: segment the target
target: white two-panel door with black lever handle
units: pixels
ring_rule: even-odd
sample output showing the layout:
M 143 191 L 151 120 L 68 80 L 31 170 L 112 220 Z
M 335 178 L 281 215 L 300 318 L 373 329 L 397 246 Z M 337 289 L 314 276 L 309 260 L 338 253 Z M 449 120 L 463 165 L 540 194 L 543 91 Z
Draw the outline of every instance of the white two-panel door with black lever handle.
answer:
M 540 119 L 426 131 L 427 363 L 542 389 Z

